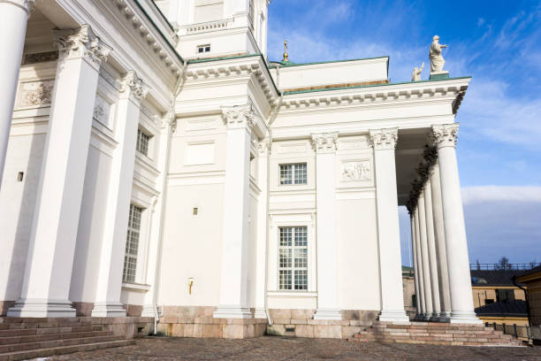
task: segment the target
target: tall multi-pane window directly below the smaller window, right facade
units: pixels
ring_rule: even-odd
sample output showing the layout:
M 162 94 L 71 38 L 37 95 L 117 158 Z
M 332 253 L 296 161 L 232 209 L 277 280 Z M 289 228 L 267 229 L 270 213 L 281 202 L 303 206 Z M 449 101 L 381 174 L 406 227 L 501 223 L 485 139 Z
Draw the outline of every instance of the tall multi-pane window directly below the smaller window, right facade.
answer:
M 307 227 L 280 227 L 278 246 L 279 289 L 308 289 Z

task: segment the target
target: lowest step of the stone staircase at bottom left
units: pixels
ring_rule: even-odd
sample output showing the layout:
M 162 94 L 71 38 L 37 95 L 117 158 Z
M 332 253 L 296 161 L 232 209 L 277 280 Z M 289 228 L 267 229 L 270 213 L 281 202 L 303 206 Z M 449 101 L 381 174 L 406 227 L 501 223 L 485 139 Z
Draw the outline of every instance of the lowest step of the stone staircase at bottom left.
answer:
M 133 345 L 135 340 L 118 340 L 109 342 L 95 342 L 71 346 L 50 347 L 47 349 L 19 350 L 6 354 L 0 354 L 0 361 L 27 360 L 36 357 L 50 357 L 54 355 L 65 355 L 80 351 L 93 351 L 95 349 L 108 349 Z

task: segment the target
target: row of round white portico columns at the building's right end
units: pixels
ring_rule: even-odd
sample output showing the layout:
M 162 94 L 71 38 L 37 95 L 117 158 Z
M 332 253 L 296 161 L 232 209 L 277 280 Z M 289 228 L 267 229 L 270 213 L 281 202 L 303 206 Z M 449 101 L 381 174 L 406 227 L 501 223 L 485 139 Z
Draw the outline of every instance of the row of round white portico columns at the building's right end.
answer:
M 431 128 L 431 145 L 409 195 L 417 320 L 476 318 L 456 161 L 458 123 Z

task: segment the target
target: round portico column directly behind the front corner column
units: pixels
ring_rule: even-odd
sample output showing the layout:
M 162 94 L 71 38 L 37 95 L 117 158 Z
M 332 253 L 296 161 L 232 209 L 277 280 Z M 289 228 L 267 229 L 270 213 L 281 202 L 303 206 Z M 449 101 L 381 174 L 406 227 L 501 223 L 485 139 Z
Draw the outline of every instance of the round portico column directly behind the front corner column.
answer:
M 451 295 L 449 293 L 449 273 L 447 271 L 446 230 L 444 228 L 443 208 L 441 204 L 441 186 L 439 183 L 438 160 L 431 169 L 432 213 L 436 250 L 438 250 L 439 300 L 441 319 L 447 321 L 451 316 Z

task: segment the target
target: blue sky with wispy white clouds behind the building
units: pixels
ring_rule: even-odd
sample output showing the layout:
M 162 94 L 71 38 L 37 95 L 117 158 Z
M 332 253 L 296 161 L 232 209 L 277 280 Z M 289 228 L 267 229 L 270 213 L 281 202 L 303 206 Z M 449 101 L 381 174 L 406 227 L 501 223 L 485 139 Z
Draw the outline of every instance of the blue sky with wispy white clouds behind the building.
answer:
M 296 63 L 390 56 L 391 81 L 430 68 L 433 35 L 451 76 L 471 75 L 457 121 L 471 262 L 541 262 L 540 0 L 272 0 L 269 58 Z M 403 208 L 403 207 L 401 207 Z M 400 209 L 402 262 L 409 219 Z

